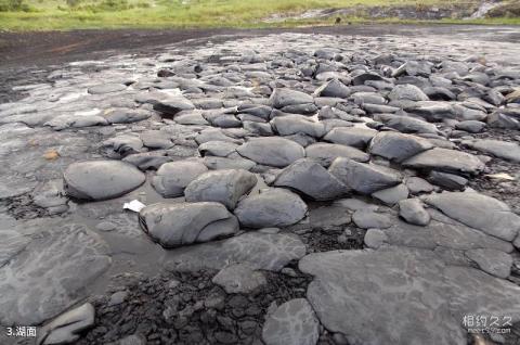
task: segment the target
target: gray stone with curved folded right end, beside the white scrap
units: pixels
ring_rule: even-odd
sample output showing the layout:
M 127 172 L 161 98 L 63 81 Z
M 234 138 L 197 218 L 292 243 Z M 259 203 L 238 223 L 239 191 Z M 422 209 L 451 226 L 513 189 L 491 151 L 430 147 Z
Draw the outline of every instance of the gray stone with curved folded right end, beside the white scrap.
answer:
M 177 247 L 235 233 L 238 231 L 237 225 L 225 221 L 232 217 L 222 204 L 213 202 L 158 203 L 146 206 L 139 213 L 139 223 L 161 246 Z M 224 227 L 219 225 L 222 220 L 225 221 Z

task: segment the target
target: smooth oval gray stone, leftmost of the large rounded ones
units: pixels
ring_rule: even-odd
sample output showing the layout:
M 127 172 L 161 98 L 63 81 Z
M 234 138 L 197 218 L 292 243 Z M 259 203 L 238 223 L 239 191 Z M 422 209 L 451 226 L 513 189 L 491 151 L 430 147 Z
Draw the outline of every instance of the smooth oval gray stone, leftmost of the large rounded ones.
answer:
M 133 165 L 119 161 L 87 161 L 70 164 L 63 173 L 68 195 L 82 200 L 121 196 L 143 184 L 145 176 Z

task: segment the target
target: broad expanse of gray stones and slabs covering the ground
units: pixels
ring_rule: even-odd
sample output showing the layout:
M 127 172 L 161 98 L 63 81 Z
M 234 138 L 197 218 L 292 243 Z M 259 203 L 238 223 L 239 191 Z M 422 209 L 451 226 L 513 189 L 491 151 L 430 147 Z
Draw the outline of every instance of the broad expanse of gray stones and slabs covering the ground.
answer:
M 16 78 L 0 344 L 518 344 L 518 29 L 408 29 Z

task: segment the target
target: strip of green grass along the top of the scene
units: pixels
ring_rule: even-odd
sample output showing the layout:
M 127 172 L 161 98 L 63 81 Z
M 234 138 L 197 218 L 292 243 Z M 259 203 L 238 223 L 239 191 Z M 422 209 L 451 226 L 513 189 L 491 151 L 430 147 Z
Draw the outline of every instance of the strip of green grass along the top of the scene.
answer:
M 9 0 L 0 0 L 9 1 Z M 330 20 L 264 23 L 276 13 L 297 14 L 312 9 L 353 5 L 396 5 L 450 3 L 450 0 L 26 0 L 28 12 L 0 12 L 3 30 L 65 30 L 88 28 L 193 28 L 193 27 L 272 27 L 332 24 Z M 343 18 L 344 22 L 373 22 Z M 384 23 L 420 23 L 385 18 Z M 520 24 L 520 18 L 441 21 L 441 23 Z

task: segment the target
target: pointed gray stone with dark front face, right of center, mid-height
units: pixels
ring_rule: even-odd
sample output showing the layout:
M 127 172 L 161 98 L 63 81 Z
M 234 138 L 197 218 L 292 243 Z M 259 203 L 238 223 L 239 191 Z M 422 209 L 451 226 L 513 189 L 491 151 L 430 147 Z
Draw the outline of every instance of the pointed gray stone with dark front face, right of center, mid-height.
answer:
M 385 131 L 372 139 L 368 151 L 370 154 L 400 163 L 430 149 L 433 149 L 433 145 L 424 138 Z

